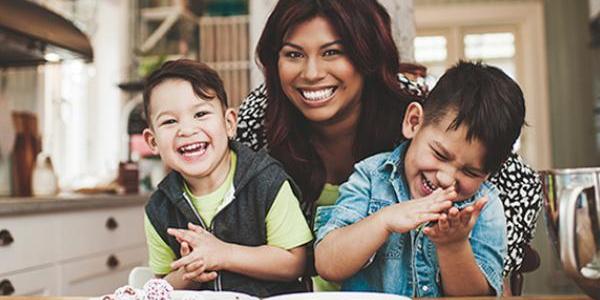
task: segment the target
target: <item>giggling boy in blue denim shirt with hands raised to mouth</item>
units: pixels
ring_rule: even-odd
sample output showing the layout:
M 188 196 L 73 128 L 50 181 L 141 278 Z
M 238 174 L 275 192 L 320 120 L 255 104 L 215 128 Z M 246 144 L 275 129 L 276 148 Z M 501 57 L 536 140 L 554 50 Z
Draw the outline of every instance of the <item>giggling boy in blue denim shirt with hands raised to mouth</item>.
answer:
M 506 220 L 487 182 L 525 119 L 523 93 L 501 70 L 459 62 L 423 106 L 408 141 L 355 165 L 317 212 L 316 268 L 342 290 L 415 297 L 500 295 Z

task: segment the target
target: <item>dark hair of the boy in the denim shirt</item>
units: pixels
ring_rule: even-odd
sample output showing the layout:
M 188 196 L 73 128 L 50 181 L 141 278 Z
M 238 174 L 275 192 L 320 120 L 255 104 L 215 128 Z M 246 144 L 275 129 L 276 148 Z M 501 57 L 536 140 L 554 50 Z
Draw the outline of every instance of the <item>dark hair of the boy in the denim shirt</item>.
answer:
M 525 124 L 525 100 L 519 85 L 500 69 L 460 61 L 448 69 L 425 100 L 425 125 L 456 112 L 447 130 L 464 122 L 467 140 L 486 149 L 484 169 L 493 173 L 512 151 Z

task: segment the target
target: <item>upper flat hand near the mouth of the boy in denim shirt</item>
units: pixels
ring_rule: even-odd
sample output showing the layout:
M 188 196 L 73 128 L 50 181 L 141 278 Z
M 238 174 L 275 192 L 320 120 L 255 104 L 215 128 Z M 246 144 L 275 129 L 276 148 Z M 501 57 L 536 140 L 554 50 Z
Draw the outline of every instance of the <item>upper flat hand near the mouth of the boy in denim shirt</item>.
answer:
M 452 207 L 456 197 L 452 186 L 444 190 L 437 189 L 424 198 L 387 206 L 381 210 L 385 227 L 390 233 L 404 233 L 425 222 L 438 220 L 443 211 Z

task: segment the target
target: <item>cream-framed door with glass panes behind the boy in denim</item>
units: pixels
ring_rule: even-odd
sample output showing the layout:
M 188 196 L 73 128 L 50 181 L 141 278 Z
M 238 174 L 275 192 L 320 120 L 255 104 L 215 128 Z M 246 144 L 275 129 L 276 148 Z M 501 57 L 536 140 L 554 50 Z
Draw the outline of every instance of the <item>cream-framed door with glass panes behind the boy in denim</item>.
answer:
M 550 167 L 549 103 L 543 1 L 415 1 L 417 62 L 438 78 L 459 59 L 499 67 L 521 86 L 527 123 L 519 153 L 536 169 Z M 445 43 L 443 42 L 445 41 Z M 443 55 L 445 44 L 446 58 Z M 442 67 L 443 66 L 443 67 Z

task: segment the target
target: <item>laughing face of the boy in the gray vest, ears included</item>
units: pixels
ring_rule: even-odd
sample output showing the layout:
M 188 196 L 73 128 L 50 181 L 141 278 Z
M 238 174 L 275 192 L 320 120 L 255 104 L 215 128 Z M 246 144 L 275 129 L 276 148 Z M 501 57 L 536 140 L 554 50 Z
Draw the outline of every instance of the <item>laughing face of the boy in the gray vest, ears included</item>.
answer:
M 223 111 L 216 97 L 200 98 L 188 81 L 168 79 L 152 90 L 151 126 L 144 130 L 144 138 L 152 152 L 188 183 L 202 179 L 218 183 L 229 170 L 228 140 L 235 134 L 236 117 L 232 109 Z

